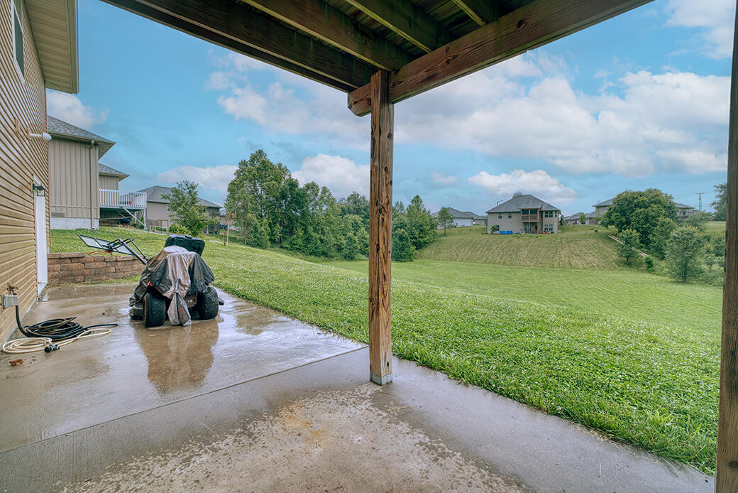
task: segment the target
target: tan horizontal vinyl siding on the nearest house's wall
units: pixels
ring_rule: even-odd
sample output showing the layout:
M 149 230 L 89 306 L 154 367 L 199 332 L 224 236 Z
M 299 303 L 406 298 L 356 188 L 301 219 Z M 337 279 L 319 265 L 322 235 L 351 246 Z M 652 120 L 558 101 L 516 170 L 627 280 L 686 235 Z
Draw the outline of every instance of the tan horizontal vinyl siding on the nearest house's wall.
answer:
M 49 190 L 49 157 L 44 140 L 13 132 L 14 118 L 20 120 L 21 129 L 46 132 L 46 89 L 25 10 L 24 79 L 15 69 L 12 3 L 0 0 L 0 292 L 7 293 L 9 284 L 18 286 L 23 316 L 37 296 L 32 184 L 35 177 Z M 49 193 L 44 216 L 48 235 Z M 0 307 L 0 340 L 14 328 L 15 309 Z

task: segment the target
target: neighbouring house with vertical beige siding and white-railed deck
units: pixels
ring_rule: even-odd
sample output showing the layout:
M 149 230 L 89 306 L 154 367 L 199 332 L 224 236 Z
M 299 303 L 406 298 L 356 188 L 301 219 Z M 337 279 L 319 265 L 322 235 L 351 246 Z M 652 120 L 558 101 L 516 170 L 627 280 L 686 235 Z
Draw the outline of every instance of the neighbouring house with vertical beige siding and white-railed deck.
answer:
M 58 118 L 47 118 L 52 229 L 146 222 L 146 194 L 120 190 L 128 174 L 100 163 L 115 142 Z

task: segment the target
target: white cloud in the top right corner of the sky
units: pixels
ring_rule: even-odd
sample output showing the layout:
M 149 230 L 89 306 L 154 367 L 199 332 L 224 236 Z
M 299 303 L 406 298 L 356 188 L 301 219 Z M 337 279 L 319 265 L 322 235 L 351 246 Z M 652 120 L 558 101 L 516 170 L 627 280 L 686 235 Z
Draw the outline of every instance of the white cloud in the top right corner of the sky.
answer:
M 700 51 L 710 58 L 728 58 L 733 53 L 733 0 L 669 0 L 666 24 L 700 30 Z

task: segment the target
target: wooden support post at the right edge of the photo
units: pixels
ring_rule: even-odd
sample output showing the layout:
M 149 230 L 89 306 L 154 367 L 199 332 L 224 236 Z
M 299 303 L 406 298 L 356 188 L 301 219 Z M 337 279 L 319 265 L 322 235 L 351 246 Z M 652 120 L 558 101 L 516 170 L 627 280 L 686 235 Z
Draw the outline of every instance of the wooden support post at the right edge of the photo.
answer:
M 715 492 L 738 492 L 738 15 L 733 40 Z

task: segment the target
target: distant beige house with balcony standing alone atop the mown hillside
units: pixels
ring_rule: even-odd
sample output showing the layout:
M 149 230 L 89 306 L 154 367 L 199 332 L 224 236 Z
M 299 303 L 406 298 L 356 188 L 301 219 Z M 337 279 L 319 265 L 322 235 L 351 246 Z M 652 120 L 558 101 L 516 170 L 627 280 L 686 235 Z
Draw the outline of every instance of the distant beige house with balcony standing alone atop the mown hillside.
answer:
M 487 232 L 558 233 L 561 209 L 530 194 L 517 193 L 487 211 Z

